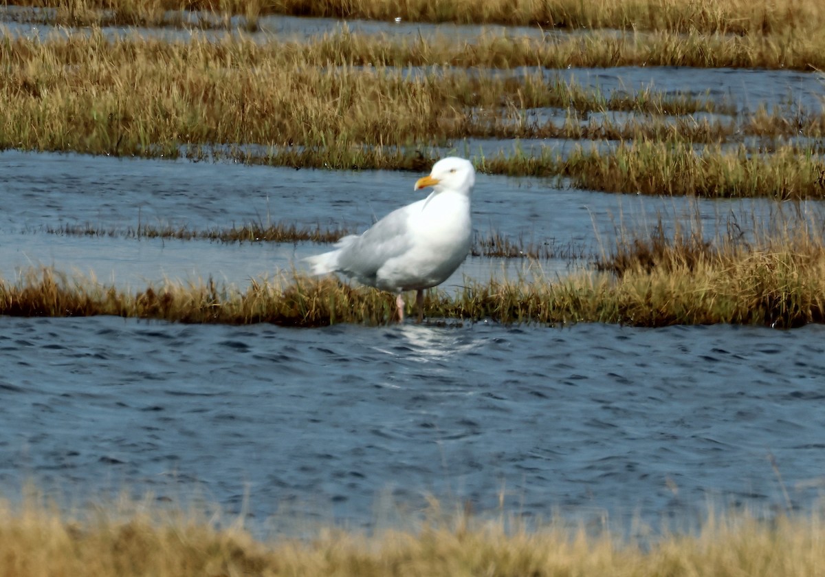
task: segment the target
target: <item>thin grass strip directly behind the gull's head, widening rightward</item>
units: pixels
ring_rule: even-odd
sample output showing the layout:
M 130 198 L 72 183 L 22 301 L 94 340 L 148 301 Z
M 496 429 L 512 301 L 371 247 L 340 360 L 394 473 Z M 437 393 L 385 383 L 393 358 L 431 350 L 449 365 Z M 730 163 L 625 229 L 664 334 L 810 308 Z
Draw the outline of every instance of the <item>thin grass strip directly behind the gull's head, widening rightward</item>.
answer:
M 205 156 L 295 168 L 418 172 L 425 171 L 439 157 L 439 152 L 432 149 L 422 157 L 405 149 L 362 145 L 347 149 L 271 149 L 267 154 L 240 147 L 217 152 L 194 148 L 186 154 L 196 159 Z M 603 152 L 577 146 L 561 155 L 552 146 L 515 143 L 512 152 L 484 156 L 470 150 L 469 156 L 482 173 L 563 177 L 570 186 L 601 192 L 779 200 L 825 196 L 825 160 L 818 150 L 794 144 L 763 153 L 743 145 L 696 148 L 678 140 L 639 140 L 622 142 Z

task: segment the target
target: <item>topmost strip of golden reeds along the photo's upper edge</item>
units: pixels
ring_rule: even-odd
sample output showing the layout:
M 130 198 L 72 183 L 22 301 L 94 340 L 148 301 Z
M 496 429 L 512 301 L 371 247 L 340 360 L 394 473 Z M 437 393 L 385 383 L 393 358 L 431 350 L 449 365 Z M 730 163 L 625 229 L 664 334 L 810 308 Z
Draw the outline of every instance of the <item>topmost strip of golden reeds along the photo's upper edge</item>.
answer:
M 393 21 L 497 23 L 539 25 L 547 29 L 613 28 L 668 30 L 677 32 L 721 32 L 736 35 L 764 35 L 781 31 L 820 30 L 825 23 L 822 6 L 816 0 L 795 2 L 746 2 L 745 0 L 453 0 L 426 2 L 410 0 L 20 0 L 30 6 L 56 7 L 53 23 L 158 25 L 175 15 L 164 11 L 201 10 L 224 18 L 233 14 L 253 23 L 268 13 L 295 16 L 367 18 Z M 97 14 L 98 20 L 95 20 Z

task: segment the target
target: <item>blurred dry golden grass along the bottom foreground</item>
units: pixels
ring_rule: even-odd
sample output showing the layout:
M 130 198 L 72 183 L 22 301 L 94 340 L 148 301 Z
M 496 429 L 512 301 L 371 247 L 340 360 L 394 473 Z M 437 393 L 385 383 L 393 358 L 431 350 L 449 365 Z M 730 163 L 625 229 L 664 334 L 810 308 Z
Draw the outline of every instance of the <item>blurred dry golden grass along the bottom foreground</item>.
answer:
M 666 534 L 642 545 L 553 523 L 532 531 L 516 523 L 507 530 L 503 521 L 465 514 L 436 518 L 417 532 L 387 530 L 366 537 L 328 527 L 312 539 L 263 542 L 239 524 L 216 529 L 195 515 L 151 506 L 68 515 L 37 504 L 0 503 L 0 513 L 0 574 L 8 577 L 814 577 L 822 575 L 825 563 L 823 522 L 816 515 L 771 522 L 710 515 L 695 534 Z

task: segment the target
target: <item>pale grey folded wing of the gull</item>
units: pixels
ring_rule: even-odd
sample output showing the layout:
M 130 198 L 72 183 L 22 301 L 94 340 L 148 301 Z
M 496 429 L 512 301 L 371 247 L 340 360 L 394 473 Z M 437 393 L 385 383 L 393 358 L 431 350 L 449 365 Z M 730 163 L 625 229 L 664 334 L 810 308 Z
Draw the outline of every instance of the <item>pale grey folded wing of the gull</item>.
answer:
M 413 239 L 407 234 L 409 209 L 410 206 L 404 206 L 394 210 L 361 236 L 342 239 L 338 270 L 374 285 L 375 276 L 384 262 L 402 255 L 413 245 Z

